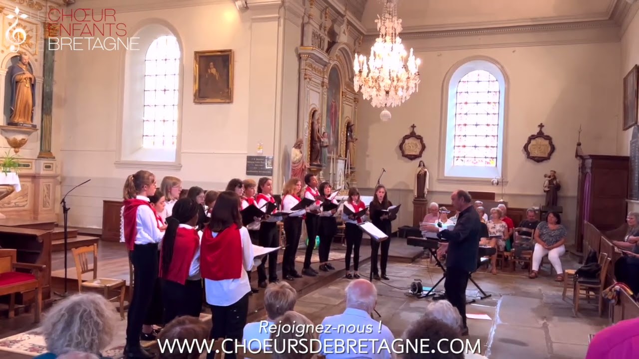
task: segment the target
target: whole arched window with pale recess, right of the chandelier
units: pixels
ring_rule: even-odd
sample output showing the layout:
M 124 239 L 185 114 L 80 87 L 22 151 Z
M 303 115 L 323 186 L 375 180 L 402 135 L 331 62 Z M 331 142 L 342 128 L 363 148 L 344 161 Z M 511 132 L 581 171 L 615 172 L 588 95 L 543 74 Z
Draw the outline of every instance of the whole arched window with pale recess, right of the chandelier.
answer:
M 502 176 L 505 78 L 486 60 L 465 63 L 448 86 L 444 177 Z

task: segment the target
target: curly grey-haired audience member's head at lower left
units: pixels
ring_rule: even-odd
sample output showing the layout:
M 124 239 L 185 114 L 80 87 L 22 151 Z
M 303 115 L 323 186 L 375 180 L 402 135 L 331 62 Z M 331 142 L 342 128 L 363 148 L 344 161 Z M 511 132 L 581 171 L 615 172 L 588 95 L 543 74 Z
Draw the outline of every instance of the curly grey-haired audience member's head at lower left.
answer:
M 54 359 L 72 351 L 102 357 L 100 352 L 113 339 L 117 317 L 115 308 L 100 294 L 75 294 L 61 300 L 42 323 L 49 352 L 36 359 Z

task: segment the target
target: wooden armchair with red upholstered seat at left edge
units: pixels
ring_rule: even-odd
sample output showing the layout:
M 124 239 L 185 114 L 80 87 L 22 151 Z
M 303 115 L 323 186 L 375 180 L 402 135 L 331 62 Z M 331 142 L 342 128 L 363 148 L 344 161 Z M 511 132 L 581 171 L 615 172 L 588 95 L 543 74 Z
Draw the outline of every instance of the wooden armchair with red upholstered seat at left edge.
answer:
M 17 271 L 18 269 L 30 270 L 31 273 Z M 15 249 L 0 249 L 0 296 L 9 294 L 9 317 L 15 315 L 15 293 L 36 291 L 35 296 L 35 323 L 40 323 L 42 310 L 42 286 L 40 273 L 45 266 L 40 264 L 18 263 Z

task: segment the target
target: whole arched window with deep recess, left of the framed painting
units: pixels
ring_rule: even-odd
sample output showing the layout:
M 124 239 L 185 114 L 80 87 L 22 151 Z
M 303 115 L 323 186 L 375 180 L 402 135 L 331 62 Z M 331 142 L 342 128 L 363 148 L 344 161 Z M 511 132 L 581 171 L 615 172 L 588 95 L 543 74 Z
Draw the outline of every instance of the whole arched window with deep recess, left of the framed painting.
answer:
M 180 40 L 166 24 L 134 35 L 125 55 L 118 167 L 179 170 L 183 66 Z

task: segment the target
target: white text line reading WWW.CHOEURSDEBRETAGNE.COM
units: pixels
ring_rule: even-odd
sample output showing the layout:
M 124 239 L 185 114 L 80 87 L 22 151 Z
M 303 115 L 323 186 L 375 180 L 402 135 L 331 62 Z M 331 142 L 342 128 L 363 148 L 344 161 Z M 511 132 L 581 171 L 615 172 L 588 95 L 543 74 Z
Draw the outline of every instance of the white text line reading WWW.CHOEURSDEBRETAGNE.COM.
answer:
M 358 354 L 358 353 L 477 353 L 481 354 L 480 340 L 442 339 L 431 342 L 428 339 L 252 339 L 236 342 L 222 340 L 215 346 L 213 340 L 157 340 L 160 353 L 299 353 L 299 354 Z M 227 345 L 225 345 L 227 344 Z

